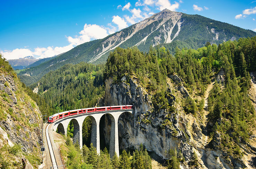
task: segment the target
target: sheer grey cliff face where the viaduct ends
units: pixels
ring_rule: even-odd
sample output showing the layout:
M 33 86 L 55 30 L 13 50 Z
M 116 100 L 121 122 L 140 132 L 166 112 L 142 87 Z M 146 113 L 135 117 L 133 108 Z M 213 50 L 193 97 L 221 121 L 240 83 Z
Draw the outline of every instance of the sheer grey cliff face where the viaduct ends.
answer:
M 163 159 L 167 159 L 166 152 L 169 149 L 180 149 L 185 159 L 190 159 L 192 146 L 186 143 L 184 131 L 181 129 L 185 128 L 182 121 L 184 118 L 180 119 L 179 115 L 172 114 L 168 117 L 170 123 L 166 125 L 168 113 L 164 110 L 153 111 L 151 96 L 137 80 L 122 80 L 121 83 L 115 84 L 111 78 L 107 79 L 104 98 L 105 105 L 134 106 L 133 116 L 124 113 L 119 118 L 119 147 L 136 149 L 142 143 L 148 151 L 154 151 Z

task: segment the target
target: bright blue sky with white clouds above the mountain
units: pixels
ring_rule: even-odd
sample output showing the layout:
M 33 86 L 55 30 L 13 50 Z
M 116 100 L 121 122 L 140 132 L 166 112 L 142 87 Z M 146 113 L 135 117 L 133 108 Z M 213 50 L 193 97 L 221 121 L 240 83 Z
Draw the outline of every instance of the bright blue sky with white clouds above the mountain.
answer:
M 256 1 L 0 1 L 0 52 L 52 57 L 106 37 L 165 8 L 256 31 Z

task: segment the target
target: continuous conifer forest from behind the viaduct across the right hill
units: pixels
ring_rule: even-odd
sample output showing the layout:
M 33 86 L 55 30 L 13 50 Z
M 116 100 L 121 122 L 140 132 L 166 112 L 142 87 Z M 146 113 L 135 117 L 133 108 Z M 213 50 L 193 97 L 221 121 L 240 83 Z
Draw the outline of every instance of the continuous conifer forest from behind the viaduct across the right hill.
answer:
M 105 66 L 84 62 L 67 64 L 47 73 L 31 87 L 38 88 L 39 96 L 51 102 L 53 114 L 58 109 L 64 111 L 94 106 L 104 96 L 104 80 L 108 78 L 112 78 L 115 84 L 119 84 L 124 76 L 125 83 L 135 79 L 146 90 L 154 107 L 151 113 L 143 115 L 144 118 L 138 118 L 138 123 L 152 124 L 151 118 L 164 111 L 167 114 L 160 127 L 167 130 L 173 128 L 171 117 L 179 116 L 184 111 L 185 118 L 193 117 L 202 132 L 205 131 L 207 140 L 204 148 L 220 150 L 221 156 L 228 161 L 232 159 L 230 163 L 235 167 L 237 163 L 234 161 L 245 156 L 240 147 L 253 142 L 253 135 L 256 134 L 255 108 L 248 92 L 251 85 L 249 72 L 256 70 L 255 49 L 256 37 L 219 45 L 207 43 L 197 50 L 176 48 L 175 56 L 161 46 L 150 47 L 146 53 L 136 47 L 116 48 L 110 52 Z M 224 80 L 214 82 L 221 71 Z M 184 98 L 175 95 L 175 104 L 170 102 L 174 93 L 168 86 L 173 83 L 169 78 L 172 76 L 179 77 L 181 81 L 177 85 L 183 85 L 183 90 L 188 90 Z M 210 84 L 213 87 L 210 88 L 205 108 L 205 92 Z M 90 129 L 86 131 L 90 132 Z M 176 137 L 177 132 L 179 130 L 172 129 L 172 137 Z M 190 142 L 192 136 L 184 133 Z M 176 168 L 177 158 L 179 161 L 182 158 L 177 156 L 177 152 L 172 151 L 171 154 L 170 168 Z M 185 163 L 192 168 L 198 166 L 197 155 L 194 153 L 192 161 Z

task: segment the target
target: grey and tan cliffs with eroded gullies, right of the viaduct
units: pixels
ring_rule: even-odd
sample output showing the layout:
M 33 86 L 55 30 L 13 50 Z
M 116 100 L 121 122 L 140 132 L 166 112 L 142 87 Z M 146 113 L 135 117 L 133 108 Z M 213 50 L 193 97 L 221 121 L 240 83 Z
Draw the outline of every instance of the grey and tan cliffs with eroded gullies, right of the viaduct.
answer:
M 216 75 L 216 80 L 224 81 L 222 77 L 223 71 L 221 70 Z M 207 90 L 211 90 L 214 80 Z M 255 156 L 256 152 L 252 149 L 246 150 L 244 158 L 238 160 L 224 157 L 224 153 L 214 146 L 214 143 L 213 147 L 208 146 L 204 115 L 194 117 L 184 113 L 181 100 L 192 96 L 182 85 L 182 79 L 176 75 L 170 76 L 170 79 L 167 78 L 167 92 L 169 92 L 168 96 L 171 96 L 167 99 L 170 104 L 174 104 L 175 113 L 164 109 L 155 110 L 151 94 L 147 93 L 135 77 L 129 80 L 123 77 L 119 83 L 113 83 L 112 78 L 108 78 L 105 84 L 104 105 L 134 106 L 133 116 L 124 113 L 119 118 L 119 148 L 132 150 L 142 143 L 148 151 L 155 152 L 162 159 L 168 158 L 166 152 L 169 149 L 176 149 L 181 151 L 185 158 L 184 166 L 181 166 L 183 168 L 189 168 L 188 164 L 193 152 L 198 156 L 199 168 L 231 169 L 253 166 L 248 165 L 245 159 L 249 155 Z M 107 131 L 110 125 L 107 121 L 109 119 L 105 118 L 105 133 L 110 132 Z M 109 140 L 105 137 L 106 145 L 109 145 Z M 218 140 L 214 141 L 218 144 Z

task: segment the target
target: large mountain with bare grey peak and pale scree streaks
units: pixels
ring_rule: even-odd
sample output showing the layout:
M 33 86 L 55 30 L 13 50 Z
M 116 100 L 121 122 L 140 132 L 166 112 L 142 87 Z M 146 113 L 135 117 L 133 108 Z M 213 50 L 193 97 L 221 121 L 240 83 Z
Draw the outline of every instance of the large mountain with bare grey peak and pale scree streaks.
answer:
M 21 71 L 19 76 L 29 85 L 38 81 L 47 72 L 56 70 L 67 63 L 104 62 L 109 52 L 116 47 L 137 46 L 141 51 L 147 52 L 150 46 L 160 44 L 174 54 L 176 46 L 197 49 L 203 47 L 206 42 L 219 44 L 223 41 L 253 36 L 256 36 L 256 32 L 252 30 L 245 30 L 200 15 L 189 15 L 165 9 L 106 38 L 80 44 L 38 66 Z

